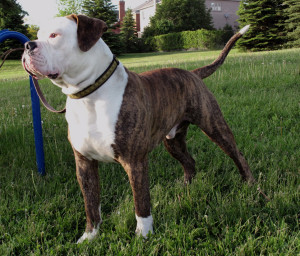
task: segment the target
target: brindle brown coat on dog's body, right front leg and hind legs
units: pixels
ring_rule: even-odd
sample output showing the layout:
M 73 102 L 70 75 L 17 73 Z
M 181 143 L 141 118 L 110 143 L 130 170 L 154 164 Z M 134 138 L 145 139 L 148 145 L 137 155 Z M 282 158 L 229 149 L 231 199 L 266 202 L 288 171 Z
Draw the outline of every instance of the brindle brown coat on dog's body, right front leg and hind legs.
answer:
M 189 124 L 199 126 L 217 143 L 234 160 L 244 179 L 254 181 L 215 97 L 197 75 L 176 68 L 142 74 L 127 70 L 127 73 L 128 84 L 112 147 L 115 160 L 129 176 L 138 216 L 150 215 L 147 155 L 161 141 L 182 164 L 185 182 L 190 182 L 195 175 L 195 161 L 185 143 Z M 175 138 L 166 139 L 177 124 Z

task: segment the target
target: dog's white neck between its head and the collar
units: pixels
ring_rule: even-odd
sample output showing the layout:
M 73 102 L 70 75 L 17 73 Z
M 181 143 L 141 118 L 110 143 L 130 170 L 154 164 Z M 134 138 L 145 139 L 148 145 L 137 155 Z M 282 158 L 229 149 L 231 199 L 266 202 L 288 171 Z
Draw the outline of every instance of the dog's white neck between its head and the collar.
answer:
M 93 58 L 90 57 L 91 55 Z M 91 59 L 98 61 L 91 63 Z M 76 94 L 95 83 L 96 79 L 110 65 L 112 59 L 112 52 L 106 43 L 100 39 L 88 52 L 81 53 L 80 63 L 70 63 L 72 73 L 66 72 L 61 77 L 51 81 L 61 87 L 64 94 Z

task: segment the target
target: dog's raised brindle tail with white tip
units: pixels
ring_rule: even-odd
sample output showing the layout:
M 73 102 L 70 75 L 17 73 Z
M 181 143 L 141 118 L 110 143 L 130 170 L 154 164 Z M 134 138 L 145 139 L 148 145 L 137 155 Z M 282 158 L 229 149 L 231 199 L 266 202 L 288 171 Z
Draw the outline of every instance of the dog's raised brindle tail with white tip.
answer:
M 241 38 L 249 29 L 250 25 L 243 27 L 238 33 L 233 35 L 227 44 L 225 45 L 224 49 L 222 50 L 219 57 L 211 64 L 204 66 L 202 68 L 197 68 L 192 72 L 198 75 L 200 78 L 204 79 L 211 74 L 213 74 L 224 62 L 227 57 L 227 54 L 230 52 L 231 48 L 234 46 L 235 42 Z

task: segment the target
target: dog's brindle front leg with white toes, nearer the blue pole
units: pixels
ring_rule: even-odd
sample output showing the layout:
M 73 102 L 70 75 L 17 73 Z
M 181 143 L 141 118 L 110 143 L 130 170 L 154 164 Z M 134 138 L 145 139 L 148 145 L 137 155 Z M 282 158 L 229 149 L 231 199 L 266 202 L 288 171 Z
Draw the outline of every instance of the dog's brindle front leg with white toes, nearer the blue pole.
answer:
M 98 162 L 89 160 L 75 149 L 76 176 L 84 198 L 86 213 L 86 229 L 77 243 L 84 240 L 92 240 L 98 233 L 99 225 L 102 222 L 100 212 L 100 188 Z

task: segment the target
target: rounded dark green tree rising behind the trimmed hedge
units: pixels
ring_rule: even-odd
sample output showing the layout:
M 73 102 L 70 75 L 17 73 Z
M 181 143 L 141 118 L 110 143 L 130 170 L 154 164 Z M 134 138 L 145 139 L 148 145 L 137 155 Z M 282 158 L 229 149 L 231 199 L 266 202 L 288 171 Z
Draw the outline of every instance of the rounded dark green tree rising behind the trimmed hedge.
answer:
M 210 10 L 204 0 L 163 0 L 145 32 L 155 36 L 201 28 L 212 29 Z

